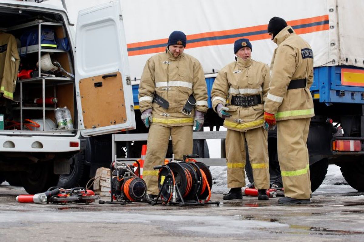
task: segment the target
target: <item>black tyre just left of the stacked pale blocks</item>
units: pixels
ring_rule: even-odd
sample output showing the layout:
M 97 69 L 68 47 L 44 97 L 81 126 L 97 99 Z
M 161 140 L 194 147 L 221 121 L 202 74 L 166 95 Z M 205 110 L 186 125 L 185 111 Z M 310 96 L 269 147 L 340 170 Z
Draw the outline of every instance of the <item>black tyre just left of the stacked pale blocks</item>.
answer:
M 69 189 L 77 186 L 84 187 L 89 179 L 90 166 L 84 162 L 84 151 L 74 154 L 70 158 L 70 174 L 60 175 L 58 186 Z

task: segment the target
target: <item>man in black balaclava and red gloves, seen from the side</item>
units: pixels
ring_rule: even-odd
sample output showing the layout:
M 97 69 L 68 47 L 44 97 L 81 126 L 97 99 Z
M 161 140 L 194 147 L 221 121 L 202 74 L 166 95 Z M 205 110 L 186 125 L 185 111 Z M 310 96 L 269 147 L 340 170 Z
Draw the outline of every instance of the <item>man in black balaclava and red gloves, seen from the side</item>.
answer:
M 313 82 L 313 52 L 279 17 L 269 21 L 268 32 L 278 45 L 273 54 L 270 88 L 264 106 L 265 121 L 270 126 L 277 124 L 278 160 L 285 195 L 278 203 L 310 203 L 306 141 L 314 116 L 309 89 Z

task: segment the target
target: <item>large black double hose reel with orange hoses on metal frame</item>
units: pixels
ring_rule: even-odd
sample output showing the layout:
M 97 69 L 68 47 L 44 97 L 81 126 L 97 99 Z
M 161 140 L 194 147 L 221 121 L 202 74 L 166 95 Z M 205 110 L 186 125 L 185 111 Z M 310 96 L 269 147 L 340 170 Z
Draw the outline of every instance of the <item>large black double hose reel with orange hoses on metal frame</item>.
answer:
M 162 205 L 220 204 L 219 201 L 210 201 L 212 176 L 205 164 L 193 159 L 196 157 L 198 156 L 183 156 L 183 161 L 172 159 L 166 165 L 154 167 L 155 170 L 159 170 L 159 193 L 157 198 L 151 201 L 152 205 L 157 204 L 159 198 Z

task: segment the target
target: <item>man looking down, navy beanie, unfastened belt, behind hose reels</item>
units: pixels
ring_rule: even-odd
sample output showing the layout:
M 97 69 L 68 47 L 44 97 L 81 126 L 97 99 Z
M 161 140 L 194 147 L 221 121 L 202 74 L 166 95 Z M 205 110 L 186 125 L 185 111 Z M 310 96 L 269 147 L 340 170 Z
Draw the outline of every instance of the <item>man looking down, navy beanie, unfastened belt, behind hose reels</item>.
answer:
M 174 158 L 192 154 L 193 126 L 202 128 L 207 106 L 207 87 L 200 62 L 183 53 L 186 35 L 174 31 L 165 52 L 147 60 L 139 85 L 142 120 L 149 129 L 143 178 L 148 198 L 158 194 L 158 170 L 172 137 Z

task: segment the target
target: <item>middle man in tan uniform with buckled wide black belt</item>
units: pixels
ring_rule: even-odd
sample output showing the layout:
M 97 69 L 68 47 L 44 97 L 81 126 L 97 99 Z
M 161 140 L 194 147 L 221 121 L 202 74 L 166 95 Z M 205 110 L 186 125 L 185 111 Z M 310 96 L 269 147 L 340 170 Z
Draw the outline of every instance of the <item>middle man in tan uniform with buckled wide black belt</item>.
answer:
M 269 89 L 269 67 L 251 59 L 252 44 L 248 39 L 234 43 L 236 61 L 221 69 L 211 91 L 212 106 L 225 118 L 228 194 L 224 200 L 242 198 L 245 186 L 245 140 L 253 168 L 258 199 L 268 199 L 269 158 L 267 131 L 264 123 L 264 100 Z

